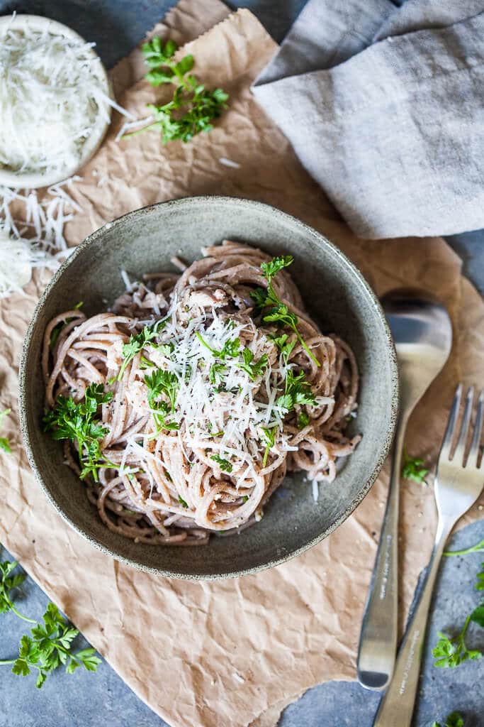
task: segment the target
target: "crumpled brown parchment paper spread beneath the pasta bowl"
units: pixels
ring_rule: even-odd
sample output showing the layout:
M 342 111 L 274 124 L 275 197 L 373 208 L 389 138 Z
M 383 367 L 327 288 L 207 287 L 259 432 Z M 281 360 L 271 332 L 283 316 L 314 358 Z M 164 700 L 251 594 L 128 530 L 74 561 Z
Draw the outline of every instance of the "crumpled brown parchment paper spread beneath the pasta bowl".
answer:
M 208 30 L 213 23 L 218 24 Z M 230 92 L 230 110 L 210 134 L 165 147 L 157 134 L 115 142 L 122 123 L 116 114 L 109 137 L 73 191 L 83 212 L 67 227 L 70 244 L 142 205 L 228 194 L 274 204 L 313 225 L 356 262 L 377 294 L 403 284 L 433 292 L 451 313 L 455 345 L 411 418 L 407 447 L 435 462 L 456 382 L 484 384 L 484 303 L 462 277 L 459 258 L 441 239 L 363 241 L 350 233 L 250 95 L 251 81 L 276 51 L 250 12 L 228 16 L 218 0 L 181 0 L 159 28 L 189 41 L 195 72 L 209 86 Z M 161 92 L 144 81 L 123 92 L 139 73 L 134 54 L 115 69 L 115 79 L 120 103 L 144 116 L 145 103 Z M 221 158 L 239 168 L 224 166 Z M 284 706 L 305 689 L 355 678 L 387 467 L 356 513 L 330 537 L 258 575 L 182 582 L 98 553 L 46 502 L 20 443 L 17 368 L 42 282 L 30 284 L 25 297 L 0 301 L 0 409 L 12 406 L 14 412 L 5 430 L 14 453 L 0 451 L 1 542 L 136 694 L 173 726 L 274 727 Z M 403 625 L 432 546 L 432 486 L 404 483 L 401 507 Z M 462 523 L 482 517 L 482 508 L 481 499 Z

